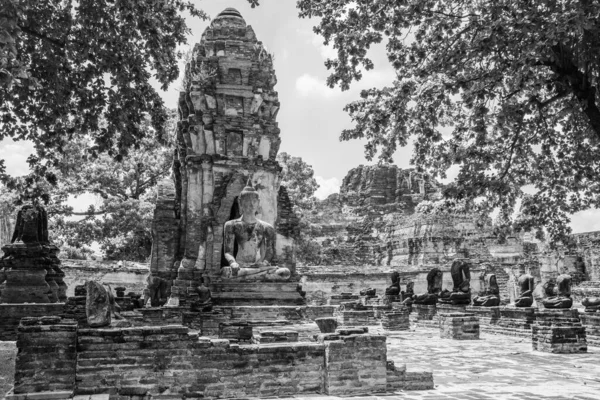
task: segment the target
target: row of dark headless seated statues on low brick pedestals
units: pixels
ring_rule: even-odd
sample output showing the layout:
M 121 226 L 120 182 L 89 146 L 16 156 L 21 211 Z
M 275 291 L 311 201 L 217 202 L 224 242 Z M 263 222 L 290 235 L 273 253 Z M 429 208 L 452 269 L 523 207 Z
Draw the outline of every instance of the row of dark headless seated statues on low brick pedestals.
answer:
M 414 293 L 414 282 L 409 281 L 406 291 L 400 288 L 400 274 L 392 273 L 392 285 L 386 289 L 388 296 L 401 296 L 405 305 L 422 304 L 452 304 L 469 305 L 479 307 L 496 307 L 500 305 L 500 287 L 495 274 L 484 273 L 481 276 L 482 290 L 478 296 L 471 295 L 471 267 L 467 261 L 455 260 L 450 267 L 452 277 L 452 290 L 443 289 L 442 271 L 433 268 L 427 274 L 427 292 Z M 550 280 L 536 289 L 534 278 L 531 274 L 523 271 L 517 280 L 518 293 L 515 298 L 515 307 L 531 307 L 534 297 L 538 305 L 548 309 L 571 308 L 571 276 L 567 273 L 560 274 L 556 280 Z M 582 304 L 586 309 L 597 309 L 600 311 L 600 298 L 584 299 Z

